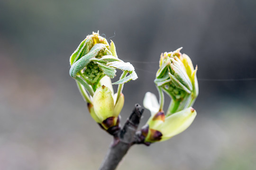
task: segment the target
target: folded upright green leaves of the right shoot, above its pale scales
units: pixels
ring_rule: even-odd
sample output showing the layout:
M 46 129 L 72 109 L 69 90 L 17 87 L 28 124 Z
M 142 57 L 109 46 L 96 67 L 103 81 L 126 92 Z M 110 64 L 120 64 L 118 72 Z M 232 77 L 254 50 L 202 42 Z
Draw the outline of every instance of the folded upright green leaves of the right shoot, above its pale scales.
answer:
M 181 49 L 162 53 L 156 73 L 155 85 L 160 94 L 161 109 L 163 91 L 172 98 L 167 115 L 192 106 L 198 96 L 197 67 L 193 68 L 191 59 L 182 54 Z

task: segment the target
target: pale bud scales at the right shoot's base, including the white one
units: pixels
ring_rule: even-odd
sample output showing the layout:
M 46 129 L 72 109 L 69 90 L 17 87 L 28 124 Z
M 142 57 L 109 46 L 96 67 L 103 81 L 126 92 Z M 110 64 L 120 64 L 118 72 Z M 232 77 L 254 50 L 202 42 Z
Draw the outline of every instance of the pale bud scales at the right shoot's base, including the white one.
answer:
M 196 111 L 189 107 L 172 115 L 159 110 L 160 105 L 153 93 L 147 92 L 143 101 L 144 107 L 151 112 L 146 126 L 141 130 L 144 143 L 165 141 L 188 128 L 196 117 Z

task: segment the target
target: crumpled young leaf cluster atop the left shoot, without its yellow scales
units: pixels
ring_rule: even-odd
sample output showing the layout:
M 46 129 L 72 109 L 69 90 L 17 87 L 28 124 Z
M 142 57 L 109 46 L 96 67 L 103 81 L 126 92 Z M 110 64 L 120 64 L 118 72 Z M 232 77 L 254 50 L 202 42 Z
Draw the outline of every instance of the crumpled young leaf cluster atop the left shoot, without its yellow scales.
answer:
M 105 75 L 114 78 L 117 68 L 130 74 L 117 84 L 137 79 L 134 67 L 118 59 L 114 42 L 111 41 L 109 45 L 107 40 L 99 35 L 99 32 L 92 32 L 80 43 L 70 57 L 70 65 L 70 76 L 73 78 L 81 76 L 94 91 L 99 87 L 99 82 Z

